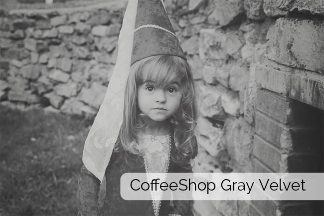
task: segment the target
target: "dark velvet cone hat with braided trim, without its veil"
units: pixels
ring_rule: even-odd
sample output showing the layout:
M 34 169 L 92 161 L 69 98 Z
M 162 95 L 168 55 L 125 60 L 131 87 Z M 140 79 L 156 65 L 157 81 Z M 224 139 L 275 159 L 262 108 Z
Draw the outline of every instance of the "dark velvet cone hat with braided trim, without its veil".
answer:
M 153 55 L 186 60 L 161 0 L 139 0 L 131 64 Z

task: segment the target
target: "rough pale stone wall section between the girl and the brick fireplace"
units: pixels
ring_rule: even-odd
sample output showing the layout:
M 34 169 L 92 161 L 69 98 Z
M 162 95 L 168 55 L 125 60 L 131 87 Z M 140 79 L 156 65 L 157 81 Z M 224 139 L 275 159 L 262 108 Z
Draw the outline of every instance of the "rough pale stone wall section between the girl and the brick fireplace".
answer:
M 246 18 L 243 0 L 164 1 L 194 71 L 199 154 L 194 172 L 251 172 L 256 62 L 271 20 Z M 258 32 L 262 29 L 261 32 Z M 200 215 L 247 215 L 244 201 L 194 203 Z

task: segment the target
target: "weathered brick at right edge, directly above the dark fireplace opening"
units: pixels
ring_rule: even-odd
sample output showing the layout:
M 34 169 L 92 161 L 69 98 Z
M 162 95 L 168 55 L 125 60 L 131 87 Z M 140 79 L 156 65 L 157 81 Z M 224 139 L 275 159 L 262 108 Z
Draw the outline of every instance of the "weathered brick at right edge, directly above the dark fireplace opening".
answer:
M 308 75 L 308 76 L 307 76 Z M 324 78 L 323 75 L 294 74 L 290 78 L 291 98 L 324 110 Z

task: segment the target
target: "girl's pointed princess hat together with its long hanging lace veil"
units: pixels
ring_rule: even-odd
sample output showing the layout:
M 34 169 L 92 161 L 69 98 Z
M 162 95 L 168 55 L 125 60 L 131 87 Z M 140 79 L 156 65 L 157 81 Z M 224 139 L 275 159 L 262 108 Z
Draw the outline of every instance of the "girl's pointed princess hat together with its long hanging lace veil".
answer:
M 186 60 L 162 0 L 129 0 L 119 34 L 114 72 L 83 149 L 85 167 L 100 181 L 122 125 L 130 67 L 146 57 L 163 54 Z

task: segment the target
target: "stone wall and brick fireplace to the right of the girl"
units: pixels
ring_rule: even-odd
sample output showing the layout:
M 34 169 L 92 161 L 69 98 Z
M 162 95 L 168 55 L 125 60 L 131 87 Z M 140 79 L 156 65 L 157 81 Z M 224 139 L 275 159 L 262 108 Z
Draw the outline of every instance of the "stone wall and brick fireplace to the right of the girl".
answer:
M 301 112 L 297 114 L 297 110 L 307 110 L 291 99 L 324 109 L 323 1 L 165 0 L 164 3 L 168 13 L 173 14 L 187 58 L 198 72 L 195 78 L 200 111 L 196 133 L 199 154 L 194 171 L 314 172 L 310 166 L 318 162 L 319 155 L 305 151 L 305 157 L 300 156 L 293 151 L 310 146 L 300 149 L 290 146 L 289 150 L 288 145 L 292 142 L 301 145 L 297 141 L 301 137 L 319 138 L 321 131 L 321 128 L 296 130 L 294 127 L 300 125 L 290 124 L 301 122 L 297 117 Z M 291 68 L 281 71 L 284 67 L 277 63 Z M 291 76 L 292 72 L 295 74 Z M 282 128 L 281 122 L 288 125 Z M 321 140 L 317 138 L 309 139 L 313 151 L 321 149 L 318 145 Z M 263 143 L 265 140 L 273 143 Z M 301 163 L 307 165 L 297 169 Z M 194 208 L 200 215 L 220 216 L 303 215 L 313 211 L 310 202 L 276 201 L 252 204 L 204 201 L 195 202 Z

